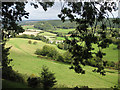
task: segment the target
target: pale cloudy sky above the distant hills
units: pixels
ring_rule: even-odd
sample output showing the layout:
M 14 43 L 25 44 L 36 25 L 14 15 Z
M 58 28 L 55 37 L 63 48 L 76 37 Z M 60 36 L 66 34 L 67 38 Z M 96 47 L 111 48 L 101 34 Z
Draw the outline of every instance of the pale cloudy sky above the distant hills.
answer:
M 63 4 L 63 3 L 62 3 Z M 47 11 L 44 11 L 43 8 L 39 5 L 39 8 L 35 9 L 33 6 L 28 3 L 25 6 L 25 10 L 29 12 L 29 19 L 23 18 L 23 20 L 53 20 L 53 19 L 60 19 L 58 18 L 58 14 L 60 14 L 61 11 L 61 3 L 55 2 L 55 4 L 51 7 L 48 8 Z M 119 7 L 119 13 L 120 13 L 120 7 Z M 115 17 L 118 17 L 118 11 L 113 12 L 113 15 Z M 109 13 L 109 16 L 112 17 L 112 15 Z

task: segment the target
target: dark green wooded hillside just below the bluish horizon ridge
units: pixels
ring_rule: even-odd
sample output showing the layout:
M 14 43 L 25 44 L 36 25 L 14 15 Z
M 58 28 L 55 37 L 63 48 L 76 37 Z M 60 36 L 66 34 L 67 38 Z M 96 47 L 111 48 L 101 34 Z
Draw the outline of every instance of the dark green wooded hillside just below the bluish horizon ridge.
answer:
M 48 31 L 48 30 L 56 30 L 56 28 L 61 28 L 61 29 L 71 29 L 75 28 L 77 25 L 75 22 L 65 22 L 63 23 L 60 20 L 50 20 L 50 21 L 39 21 L 34 24 L 34 28 Z

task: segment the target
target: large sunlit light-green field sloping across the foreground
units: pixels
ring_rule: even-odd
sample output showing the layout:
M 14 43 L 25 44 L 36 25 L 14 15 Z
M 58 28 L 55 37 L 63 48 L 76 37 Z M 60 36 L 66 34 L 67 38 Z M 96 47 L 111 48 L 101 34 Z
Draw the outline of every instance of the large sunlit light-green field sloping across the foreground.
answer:
M 75 87 L 80 86 L 89 86 L 91 88 L 110 88 L 118 84 L 118 71 L 106 69 L 107 75 L 101 76 L 98 73 L 92 72 L 93 67 L 85 66 L 86 74 L 81 75 L 70 70 L 70 65 L 62 64 L 59 62 L 51 61 L 44 58 L 37 58 L 34 54 L 37 48 L 42 48 L 46 43 L 37 40 L 37 45 L 28 44 L 29 39 L 23 38 L 11 38 L 8 43 L 8 46 L 12 46 L 10 50 L 10 58 L 13 58 L 13 69 L 19 73 L 31 75 L 35 74 L 39 76 L 41 67 L 46 65 L 49 67 L 49 70 L 55 73 L 57 80 L 57 85 L 65 87 Z M 51 45 L 51 44 L 50 44 Z M 53 45 L 56 49 L 57 46 Z M 57 49 L 60 53 L 65 51 Z M 113 50 L 113 49 L 112 49 Z

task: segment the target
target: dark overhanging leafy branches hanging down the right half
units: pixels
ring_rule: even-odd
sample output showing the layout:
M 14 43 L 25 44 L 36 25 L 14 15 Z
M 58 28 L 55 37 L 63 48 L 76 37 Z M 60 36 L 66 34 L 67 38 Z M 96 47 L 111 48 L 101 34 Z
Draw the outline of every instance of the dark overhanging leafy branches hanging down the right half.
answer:
M 105 53 L 102 52 L 102 49 L 108 47 L 112 40 L 110 37 L 118 37 L 118 30 L 112 29 L 111 23 L 109 22 L 109 17 L 105 16 L 108 12 L 116 11 L 115 2 L 67 2 L 68 7 L 64 7 L 61 10 L 61 13 L 58 15 L 63 22 L 65 22 L 66 17 L 69 18 L 71 22 L 76 22 L 78 24 L 76 31 L 72 33 L 71 40 L 66 38 L 66 42 L 72 47 L 69 51 L 72 53 L 74 58 L 73 69 L 76 73 L 83 73 L 84 70 L 81 67 L 86 65 L 88 60 L 93 58 L 95 55 L 99 58 L 100 62 L 97 62 L 97 71 L 98 73 L 105 75 L 104 65 L 103 65 L 103 56 Z M 99 6 L 98 9 L 96 6 Z M 80 17 L 76 17 L 76 15 Z M 107 18 L 107 20 L 105 20 Z M 113 26 L 115 23 L 119 23 L 118 19 L 114 19 Z M 97 23 L 101 24 L 100 29 L 96 30 Z M 106 27 L 106 22 L 110 24 L 110 31 L 108 36 L 108 30 Z M 89 30 L 88 27 L 91 29 Z M 97 32 L 96 32 L 97 31 Z M 98 35 L 96 35 L 96 33 Z M 79 43 L 80 42 L 80 43 Z M 84 43 L 83 45 L 81 45 Z M 94 50 L 92 44 L 97 44 L 98 51 L 92 52 Z

